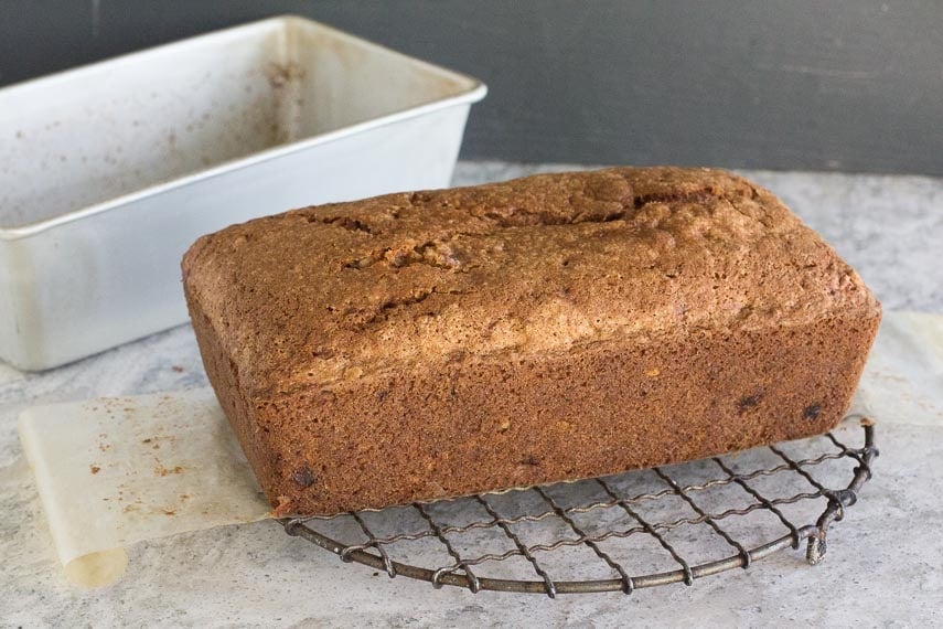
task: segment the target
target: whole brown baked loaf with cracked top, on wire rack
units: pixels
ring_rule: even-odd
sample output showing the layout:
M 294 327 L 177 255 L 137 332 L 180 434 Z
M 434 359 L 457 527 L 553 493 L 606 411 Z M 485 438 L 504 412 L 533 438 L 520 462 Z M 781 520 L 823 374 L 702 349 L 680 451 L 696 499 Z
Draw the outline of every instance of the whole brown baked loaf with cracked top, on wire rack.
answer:
M 832 428 L 880 319 L 770 192 L 614 168 L 296 210 L 183 259 L 277 514 L 682 461 Z

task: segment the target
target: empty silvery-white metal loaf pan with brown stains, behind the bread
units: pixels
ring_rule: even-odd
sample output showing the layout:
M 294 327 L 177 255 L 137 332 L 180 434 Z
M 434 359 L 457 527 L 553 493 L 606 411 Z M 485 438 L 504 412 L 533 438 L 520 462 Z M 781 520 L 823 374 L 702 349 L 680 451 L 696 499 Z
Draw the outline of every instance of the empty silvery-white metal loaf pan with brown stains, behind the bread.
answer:
M 0 89 L 0 359 L 42 370 L 184 322 L 201 234 L 448 185 L 485 92 L 293 17 Z

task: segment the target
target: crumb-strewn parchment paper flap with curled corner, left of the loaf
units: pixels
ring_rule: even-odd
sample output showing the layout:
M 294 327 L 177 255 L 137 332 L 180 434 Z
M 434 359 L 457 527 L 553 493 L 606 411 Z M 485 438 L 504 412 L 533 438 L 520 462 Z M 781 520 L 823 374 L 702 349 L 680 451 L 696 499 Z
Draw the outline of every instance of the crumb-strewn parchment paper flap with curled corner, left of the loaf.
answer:
M 270 510 L 208 388 L 29 408 L 20 440 L 58 558 L 79 586 L 120 578 L 136 542 Z

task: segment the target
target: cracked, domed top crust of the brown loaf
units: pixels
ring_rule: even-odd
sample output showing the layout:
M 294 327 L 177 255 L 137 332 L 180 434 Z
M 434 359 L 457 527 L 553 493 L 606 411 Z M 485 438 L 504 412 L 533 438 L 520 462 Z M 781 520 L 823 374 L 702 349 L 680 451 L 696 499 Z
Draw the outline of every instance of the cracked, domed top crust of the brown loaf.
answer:
M 879 306 L 769 191 L 613 168 L 388 194 L 233 225 L 183 260 L 254 396 L 424 361 L 515 360 Z

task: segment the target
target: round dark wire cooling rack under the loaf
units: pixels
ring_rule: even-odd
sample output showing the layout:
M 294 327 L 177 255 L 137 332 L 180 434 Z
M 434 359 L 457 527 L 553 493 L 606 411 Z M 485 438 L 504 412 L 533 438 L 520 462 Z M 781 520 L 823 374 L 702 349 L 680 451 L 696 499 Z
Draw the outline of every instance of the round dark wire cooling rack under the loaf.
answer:
M 878 456 L 874 424 L 856 419 L 862 436 L 846 420 L 821 437 L 677 466 L 280 522 L 344 562 L 473 593 L 692 585 L 804 541 L 817 564 Z

